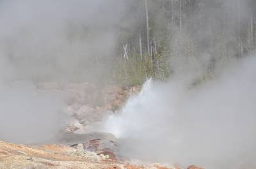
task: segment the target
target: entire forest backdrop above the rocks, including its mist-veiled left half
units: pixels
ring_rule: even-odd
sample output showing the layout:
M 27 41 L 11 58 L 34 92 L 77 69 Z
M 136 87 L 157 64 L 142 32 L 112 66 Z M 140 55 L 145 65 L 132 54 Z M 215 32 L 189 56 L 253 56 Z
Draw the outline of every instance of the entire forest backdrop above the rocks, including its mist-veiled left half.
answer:
M 3 1 L 2 22 L 11 23 L 3 25 L 3 54 L 20 79 L 35 82 L 141 85 L 166 80 L 189 59 L 205 68 L 200 81 L 250 55 L 256 43 L 253 0 L 39 1 L 31 15 L 26 5 L 9 13 L 11 2 Z

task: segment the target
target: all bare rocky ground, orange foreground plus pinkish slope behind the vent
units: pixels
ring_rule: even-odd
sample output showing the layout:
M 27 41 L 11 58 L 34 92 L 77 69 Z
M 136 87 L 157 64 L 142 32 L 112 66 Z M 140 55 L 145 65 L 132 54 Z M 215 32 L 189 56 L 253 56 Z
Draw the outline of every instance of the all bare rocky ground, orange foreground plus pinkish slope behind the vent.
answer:
M 118 111 L 139 87 L 96 87 L 92 84 L 44 83 L 41 91 L 65 96 L 71 120 L 47 145 L 15 145 L 0 141 L 0 169 L 168 169 L 178 165 L 134 165 L 118 154 L 118 140 L 109 133 L 90 132 L 91 124 Z M 189 166 L 188 169 L 202 169 Z

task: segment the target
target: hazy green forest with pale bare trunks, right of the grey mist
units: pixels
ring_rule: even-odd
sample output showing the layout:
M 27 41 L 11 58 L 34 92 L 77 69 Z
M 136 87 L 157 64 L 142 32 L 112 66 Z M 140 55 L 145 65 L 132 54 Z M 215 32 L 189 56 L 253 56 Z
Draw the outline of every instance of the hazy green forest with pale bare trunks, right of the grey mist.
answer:
M 206 58 L 205 77 L 200 78 L 211 78 L 221 62 L 255 49 L 255 5 L 253 0 L 127 2 L 129 13 L 116 26 L 113 77 L 127 84 L 148 77 L 164 80 L 175 71 L 177 58 Z

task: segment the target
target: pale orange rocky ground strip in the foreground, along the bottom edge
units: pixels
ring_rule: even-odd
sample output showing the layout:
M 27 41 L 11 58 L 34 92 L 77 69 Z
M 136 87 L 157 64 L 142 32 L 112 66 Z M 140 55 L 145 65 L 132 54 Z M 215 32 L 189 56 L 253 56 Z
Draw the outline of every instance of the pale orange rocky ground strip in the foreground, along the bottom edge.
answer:
M 88 143 L 95 147 L 98 140 Z M 179 166 L 132 165 L 117 160 L 109 154 L 96 153 L 84 149 L 79 143 L 68 145 L 15 145 L 0 142 L 1 169 L 175 169 Z M 96 146 L 97 147 L 97 146 Z M 94 148 L 93 148 L 94 149 Z M 189 166 L 188 169 L 203 169 Z

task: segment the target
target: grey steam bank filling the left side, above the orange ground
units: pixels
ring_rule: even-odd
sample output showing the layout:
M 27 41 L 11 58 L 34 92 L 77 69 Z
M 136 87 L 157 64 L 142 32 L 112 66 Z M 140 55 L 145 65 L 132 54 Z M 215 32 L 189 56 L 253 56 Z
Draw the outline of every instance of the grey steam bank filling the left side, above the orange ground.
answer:
M 42 142 L 63 129 L 61 94 L 36 86 L 104 82 L 121 11 L 119 1 L 0 1 L 1 140 Z

